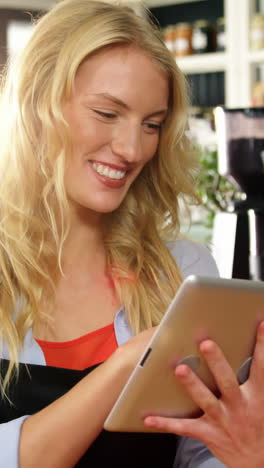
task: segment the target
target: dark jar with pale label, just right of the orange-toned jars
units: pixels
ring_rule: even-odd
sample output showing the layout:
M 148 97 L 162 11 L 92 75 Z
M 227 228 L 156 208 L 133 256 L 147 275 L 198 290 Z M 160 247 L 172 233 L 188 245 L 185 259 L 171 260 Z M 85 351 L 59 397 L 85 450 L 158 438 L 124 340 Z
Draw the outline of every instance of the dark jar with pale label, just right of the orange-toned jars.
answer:
M 215 39 L 215 28 L 209 21 L 195 21 L 192 34 L 192 48 L 194 54 L 214 52 L 216 49 Z

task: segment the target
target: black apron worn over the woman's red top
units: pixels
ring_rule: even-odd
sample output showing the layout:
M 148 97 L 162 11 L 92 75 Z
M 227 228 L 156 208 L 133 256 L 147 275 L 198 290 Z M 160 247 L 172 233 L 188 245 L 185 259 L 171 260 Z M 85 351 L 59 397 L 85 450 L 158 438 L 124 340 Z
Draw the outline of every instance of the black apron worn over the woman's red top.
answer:
M 1 361 L 1 375 L 9 362 Z M 96 366 L 83 371 L 58 367 L 20 364 L 19 377 L 8 395 L 12 405 L 0 401 L 0 423 L 40 411 L 70 390 Z M 172 468 L 177 436 L 108 432 L 103 430 L 75 465 L 78 468 Z

